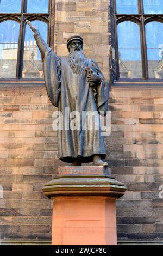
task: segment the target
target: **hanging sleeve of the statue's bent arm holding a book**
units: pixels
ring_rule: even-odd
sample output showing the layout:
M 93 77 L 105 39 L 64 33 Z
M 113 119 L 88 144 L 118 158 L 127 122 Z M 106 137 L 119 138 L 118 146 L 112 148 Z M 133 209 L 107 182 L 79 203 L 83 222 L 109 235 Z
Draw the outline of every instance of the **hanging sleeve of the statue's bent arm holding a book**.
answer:
M 108 111 L 109 84 L 104 78 L 102 71 L 99 69 L 99 66 L 96 60 L 93 60 L 93 62 L 96 65 L 97 74 L 102 77 L 100 83 L 97 86 L 96 105 L 97 105 L 98 112 L 103 111 L 104 115 L 106 115 Z

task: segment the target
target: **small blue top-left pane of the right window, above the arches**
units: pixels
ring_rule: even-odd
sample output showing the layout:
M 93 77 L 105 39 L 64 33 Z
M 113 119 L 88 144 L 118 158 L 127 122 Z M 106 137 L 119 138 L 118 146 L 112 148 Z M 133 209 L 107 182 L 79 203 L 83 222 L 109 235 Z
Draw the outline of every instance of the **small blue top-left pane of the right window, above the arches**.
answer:
M 138 14 L 137 0 L 117 0 L 117 13 Z

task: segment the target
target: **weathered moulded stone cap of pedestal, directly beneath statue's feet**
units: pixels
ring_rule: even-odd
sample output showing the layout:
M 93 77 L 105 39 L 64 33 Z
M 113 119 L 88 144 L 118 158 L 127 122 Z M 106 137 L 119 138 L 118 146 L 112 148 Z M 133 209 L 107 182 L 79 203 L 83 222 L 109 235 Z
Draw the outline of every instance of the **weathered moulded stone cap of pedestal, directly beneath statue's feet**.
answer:
M 58 175 L 42 188 L 45 196 L 55 199 L 57 196 L 106 196 L 120 198 L 126 187 L 110 175 L 105 167 L 62 167 Z

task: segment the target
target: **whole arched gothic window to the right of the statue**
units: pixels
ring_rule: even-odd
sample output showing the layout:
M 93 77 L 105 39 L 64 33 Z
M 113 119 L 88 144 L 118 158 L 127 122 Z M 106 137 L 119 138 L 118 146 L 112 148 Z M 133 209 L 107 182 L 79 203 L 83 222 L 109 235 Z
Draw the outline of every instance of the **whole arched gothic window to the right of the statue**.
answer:
M 111 2 L 113 81 L 163 79 L 162 0 Z

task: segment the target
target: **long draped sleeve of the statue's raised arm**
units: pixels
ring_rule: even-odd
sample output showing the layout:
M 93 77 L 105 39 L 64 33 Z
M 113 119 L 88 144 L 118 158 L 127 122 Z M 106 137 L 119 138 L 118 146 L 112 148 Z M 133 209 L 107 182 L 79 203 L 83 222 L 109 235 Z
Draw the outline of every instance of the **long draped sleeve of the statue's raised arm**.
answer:
M 46 44 L 38 31 L 35 32 L 34 38 L 41 52 L 43 74 L 49 100 L 55 107 L 58 107 L 61 92 L 61 58 Z

